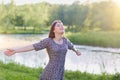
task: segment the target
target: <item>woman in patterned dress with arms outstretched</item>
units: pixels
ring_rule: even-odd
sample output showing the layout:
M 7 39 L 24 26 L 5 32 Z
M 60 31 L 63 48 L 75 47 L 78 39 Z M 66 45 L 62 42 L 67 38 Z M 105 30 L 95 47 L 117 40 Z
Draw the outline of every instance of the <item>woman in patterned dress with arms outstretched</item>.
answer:
M 31 50 L 38 51 L 46 48 L 49 55 L 49 63 L 42 72 L 39 80 L 64 80 L 64 63 L 67 49 L 73 50 L 78 56 L 81 55 L 74 48 L 73 44 L 63 36 L 64 32 L 63 23 L 60 20 L 55 20 L 51 25 L 48 38 L 18 49 L 7 49 L 4 53 L 7 56 L 11 56 L 15 53 Z

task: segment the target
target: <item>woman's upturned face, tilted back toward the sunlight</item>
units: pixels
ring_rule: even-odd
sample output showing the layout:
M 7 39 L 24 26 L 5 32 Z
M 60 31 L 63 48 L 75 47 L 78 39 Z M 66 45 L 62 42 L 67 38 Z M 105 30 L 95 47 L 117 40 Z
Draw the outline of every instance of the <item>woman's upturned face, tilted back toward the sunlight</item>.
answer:
M 54 33 L 63 34 L 65 32 L 63 23 L 57 22 L 54 28 Z

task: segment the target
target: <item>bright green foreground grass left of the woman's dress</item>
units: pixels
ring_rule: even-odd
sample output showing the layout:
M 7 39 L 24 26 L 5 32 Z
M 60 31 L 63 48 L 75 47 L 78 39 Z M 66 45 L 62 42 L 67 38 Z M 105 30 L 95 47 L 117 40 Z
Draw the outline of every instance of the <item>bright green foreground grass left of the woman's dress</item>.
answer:
M 0 62 L 0 80 L 38 80 L 42 68 L 28 68 L 18 64 Z

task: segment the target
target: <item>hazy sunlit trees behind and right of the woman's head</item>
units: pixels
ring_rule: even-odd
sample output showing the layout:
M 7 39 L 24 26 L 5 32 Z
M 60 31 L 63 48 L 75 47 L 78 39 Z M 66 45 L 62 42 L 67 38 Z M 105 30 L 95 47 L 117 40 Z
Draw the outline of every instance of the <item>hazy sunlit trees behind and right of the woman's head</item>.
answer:
M 89 31 L 94 28 L 120 30 L 119 9 L 120 7 L 116 6 L 112 1 L 91 4 L 86 2 L 85 5 L 80 5 L 79 3 L 59 5 L 53 7 L 50 22 L 55 19 L 61 19 L 68 26 L 68 30 L 73 32 Z

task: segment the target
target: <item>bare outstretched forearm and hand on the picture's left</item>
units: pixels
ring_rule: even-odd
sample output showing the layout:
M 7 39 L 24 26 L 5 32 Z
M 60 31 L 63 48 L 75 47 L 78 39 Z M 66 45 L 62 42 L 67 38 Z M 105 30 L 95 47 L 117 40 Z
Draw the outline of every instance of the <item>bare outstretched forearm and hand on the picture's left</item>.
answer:
M 4 54 L 7 56 L 11 56 L 15 53 L 20 53 L 20 52 L 27 52 L 27 51 L 32 51 L 34 50 L 33 45 L 28 45 L 25 47 L 20 47 L 20 48 L 15 48 L 15 49 L 7 49 Z

